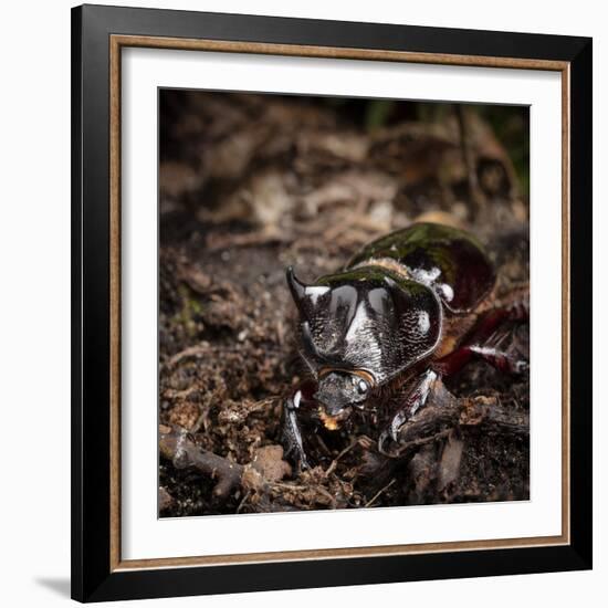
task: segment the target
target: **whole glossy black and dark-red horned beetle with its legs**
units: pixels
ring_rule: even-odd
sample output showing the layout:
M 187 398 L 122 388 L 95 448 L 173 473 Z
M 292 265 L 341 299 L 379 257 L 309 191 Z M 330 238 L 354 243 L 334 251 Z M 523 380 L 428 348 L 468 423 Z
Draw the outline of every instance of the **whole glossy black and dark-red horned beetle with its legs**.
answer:
M 499 300 L 488 253 L 463 230 L 415 223 L 312 284 L 291 266 L 286 279 L 308 378 L 284 402 L 282 434 L 301 468 L 311 467 L 303 422 L 340 431 L 354 413 L 370 416 L 378 451 L 390 455 L 433 382 L 472 357 L 505 373 L 527 369 L 496 334 L 504 321 L 527 317 L 527 289 Z

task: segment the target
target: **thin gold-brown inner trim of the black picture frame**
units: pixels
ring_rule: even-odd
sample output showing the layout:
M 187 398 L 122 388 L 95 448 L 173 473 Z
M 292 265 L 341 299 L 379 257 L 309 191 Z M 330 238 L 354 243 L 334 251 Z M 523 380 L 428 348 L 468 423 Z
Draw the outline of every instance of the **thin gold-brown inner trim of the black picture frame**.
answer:
M 122 49 L 138 46 L 227 53 L 272 54 L 364 61 L 390 61 L 431 63 L 438 65 L 469 65 L 476 67 L 509 67 L 520 70 L 546 70 L 562 74 L 562 534 L 530 538 L 460 541 L 450 543 L 423 543 L 348 547 L 335 549 L 307 549 L 238 555 L 211 555 L 166 557 L 156 559 L 128 559 L 120 557 L 120 90 Z M 570 64 L 565 61 L 511 59 L 441 53 L 416 53 L 369 49 L 336 49 L 296 44 L 270 44 L 201 39 L 117 35 L 109 36 L 109 344 L 111 344 L 111 516 L 109 516 L 109 569 L 125 572 L 186 566 L 218 566 L 303 559 L 354 558 L 386 555 L 413 555 L 455 551 L 488 551 L 494 548 L 538 547 L 568 545 L 570 543 L 570 336 L 569 336 L 569 98 Z

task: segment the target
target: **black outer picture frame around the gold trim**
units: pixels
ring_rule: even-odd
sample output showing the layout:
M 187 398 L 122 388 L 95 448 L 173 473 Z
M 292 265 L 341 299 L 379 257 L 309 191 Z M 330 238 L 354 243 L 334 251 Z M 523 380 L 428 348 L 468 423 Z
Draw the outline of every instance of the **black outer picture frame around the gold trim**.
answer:
M 553 60 L 569 65 L 570 541 L 560 546 L 113 570 L 112 34 Z M 72 10 L 72 597 L 80 601 L 591 568 L 591 40 L 84 6 Z M 551 347 L 547 345 L 547 347 Z

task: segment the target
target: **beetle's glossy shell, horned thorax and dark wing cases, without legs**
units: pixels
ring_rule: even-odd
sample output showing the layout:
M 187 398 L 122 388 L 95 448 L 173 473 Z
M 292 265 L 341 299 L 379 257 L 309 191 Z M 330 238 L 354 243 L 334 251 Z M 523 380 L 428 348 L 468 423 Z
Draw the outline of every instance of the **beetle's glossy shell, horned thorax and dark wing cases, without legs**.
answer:
M 287 281 L 301 314 L 302 356 L 381 386 L 432 355 L 445 314 L 468 313 L 494 284 L 481 244 L 454 228 L 418 223 L 365 247 L 342 272 Z

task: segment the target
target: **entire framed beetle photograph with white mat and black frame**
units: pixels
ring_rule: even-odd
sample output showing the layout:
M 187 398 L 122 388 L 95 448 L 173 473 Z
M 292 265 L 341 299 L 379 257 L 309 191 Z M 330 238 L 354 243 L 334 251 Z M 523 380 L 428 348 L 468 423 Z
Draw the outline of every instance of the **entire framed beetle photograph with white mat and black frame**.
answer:
M 591 40 L 72 13 L 72 594 L 591 567 Z

